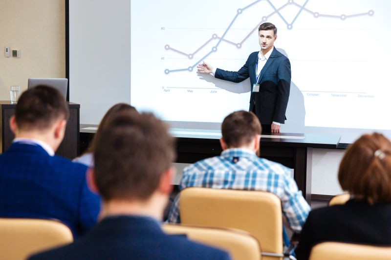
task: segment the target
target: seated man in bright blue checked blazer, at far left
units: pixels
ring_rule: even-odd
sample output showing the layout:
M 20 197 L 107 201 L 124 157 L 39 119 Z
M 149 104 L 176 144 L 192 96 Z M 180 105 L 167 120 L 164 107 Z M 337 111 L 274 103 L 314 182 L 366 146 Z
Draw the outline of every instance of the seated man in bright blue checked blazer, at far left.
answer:
M 54 88 L 37 86 L 21 95 L 10 120 L 15 140 L 0 155 L 1 218 L 57 219 L 74 236 L 96 223 L 100 198 L 87 187 L 87 167 L 54 155 L 68 114 Z

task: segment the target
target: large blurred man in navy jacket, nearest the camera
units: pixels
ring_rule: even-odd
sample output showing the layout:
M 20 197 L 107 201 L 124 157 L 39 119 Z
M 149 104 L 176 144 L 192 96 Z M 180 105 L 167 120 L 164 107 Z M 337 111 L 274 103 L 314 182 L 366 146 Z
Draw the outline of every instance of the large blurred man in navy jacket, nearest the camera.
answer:
M 88 174 L 103 199 L 100 223 L 74 243 L 30 259 L 229 259 L 160 228 L 174 177 L 174 139 L 165 124 L 151 114 L 123 111 L 101 131 Z

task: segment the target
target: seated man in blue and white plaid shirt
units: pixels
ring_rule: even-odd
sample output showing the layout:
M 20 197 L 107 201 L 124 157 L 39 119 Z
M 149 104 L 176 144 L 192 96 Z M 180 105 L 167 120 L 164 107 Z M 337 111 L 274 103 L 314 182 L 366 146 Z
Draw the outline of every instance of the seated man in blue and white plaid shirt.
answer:
M 257 156 L 261 139 L 261 124 L 257 116 L 252 112 L 234 112 L 224 119 L 221 133 L 221 155 L 186 167 L 179 189 L 206 187 L 274 193 L 281 199 L 282 213 L 289 226 L 299 233 L 310 207 L 298 190 L 289 168 Z M 169 222 L 180 222 L 178 206 L 179 195 L 171 207 Z

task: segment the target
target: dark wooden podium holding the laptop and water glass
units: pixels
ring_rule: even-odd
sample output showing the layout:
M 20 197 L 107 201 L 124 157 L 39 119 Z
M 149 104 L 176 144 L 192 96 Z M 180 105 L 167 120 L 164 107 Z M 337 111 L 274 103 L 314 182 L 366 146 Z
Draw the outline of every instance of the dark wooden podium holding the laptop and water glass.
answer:
M 63 142 L 56 151 L 57 155 L 61 155 L 68 159 L 73 159 L 79 154 L 79 115 L 80 104 L 67 102 L 69 108 L 69 120 L 66 123 L 65 136 Z M 11 101 L 0 101 L 1 106 L 1 149 L 5 151 L 11 145 L 14 139 L 9 127 L 9 120 L 15 114 L 15 104 Z

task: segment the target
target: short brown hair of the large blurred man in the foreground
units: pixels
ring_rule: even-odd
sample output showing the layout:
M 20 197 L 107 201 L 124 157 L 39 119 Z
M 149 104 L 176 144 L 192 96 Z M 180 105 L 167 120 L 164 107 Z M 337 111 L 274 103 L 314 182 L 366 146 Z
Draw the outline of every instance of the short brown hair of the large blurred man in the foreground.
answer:
M 174 138 L 152 114 L 122 111 L 102 128 L 94 151 L 103 200 L 147 200 L 175 157 Z

